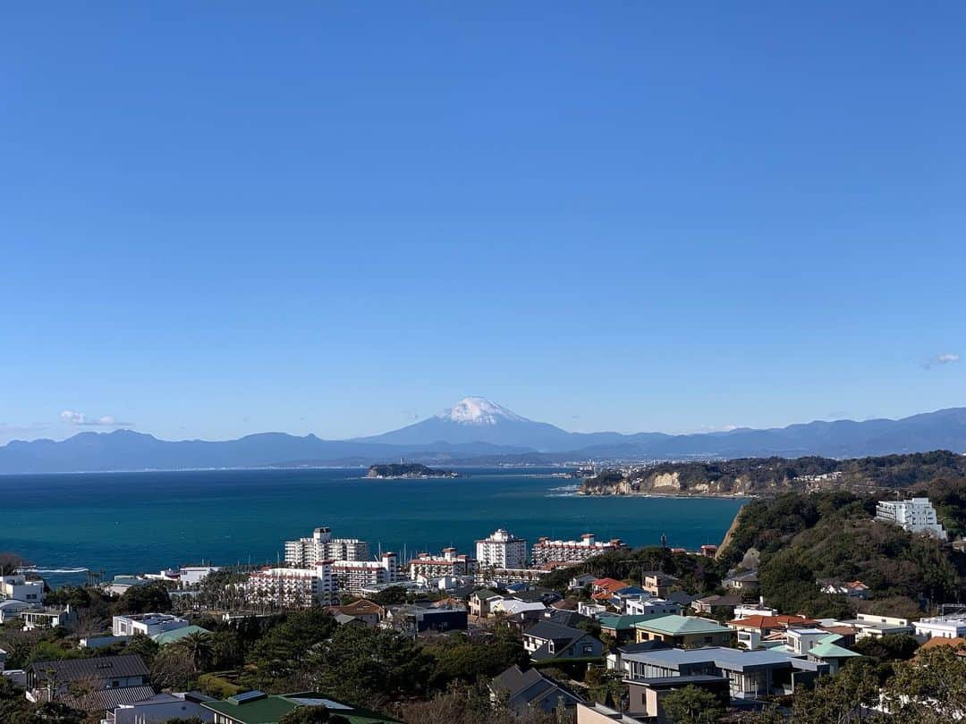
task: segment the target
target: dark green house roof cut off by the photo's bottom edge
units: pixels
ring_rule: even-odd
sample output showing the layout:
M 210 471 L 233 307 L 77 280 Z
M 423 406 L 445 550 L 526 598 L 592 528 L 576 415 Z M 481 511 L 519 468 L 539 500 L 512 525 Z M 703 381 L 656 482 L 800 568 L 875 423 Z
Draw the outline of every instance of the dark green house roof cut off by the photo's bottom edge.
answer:
M 326 707 L 329 713 L 344 717 L 350 724 L 398 724 L 384 714 L 357 709 L 313 692 L 269 695 L 264 691 L 246 691 L 224 701 L 203 702 L 201 706 L 213 712 L 214 724 L 278 724 L 285 714 L 299 707 Z

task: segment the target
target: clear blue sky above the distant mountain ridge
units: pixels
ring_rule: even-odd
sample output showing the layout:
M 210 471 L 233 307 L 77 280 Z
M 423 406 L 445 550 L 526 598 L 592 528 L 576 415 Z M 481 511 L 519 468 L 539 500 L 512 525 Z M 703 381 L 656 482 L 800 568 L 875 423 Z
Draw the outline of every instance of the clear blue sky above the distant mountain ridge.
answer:
M 7 9 L 0 442 L 966 404 L 966 6 L 667 6 Z

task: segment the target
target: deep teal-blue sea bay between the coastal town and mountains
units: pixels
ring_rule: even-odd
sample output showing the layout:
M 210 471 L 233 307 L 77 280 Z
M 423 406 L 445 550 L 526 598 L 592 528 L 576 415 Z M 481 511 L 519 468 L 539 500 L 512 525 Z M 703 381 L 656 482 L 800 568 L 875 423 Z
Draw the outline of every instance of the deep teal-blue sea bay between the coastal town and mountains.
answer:
M 558 469 L 557 469 L 558 471 Z M 695 548 L 720 543 L 742 503 L 728 499 L 582 497 L 550 470 L 464 469 L 465 477 L 374 481 L 359 468 L 0 476 L 0 550 L 42 570 L 109 575 L 204 559 L 274 562 L 283 541 L 327 525 L 412 554 L 504 527 L 538 536 Z M 49 573 L 51 584 L 77 576 Z M 80 576 L 81 578 L 83 576 Z

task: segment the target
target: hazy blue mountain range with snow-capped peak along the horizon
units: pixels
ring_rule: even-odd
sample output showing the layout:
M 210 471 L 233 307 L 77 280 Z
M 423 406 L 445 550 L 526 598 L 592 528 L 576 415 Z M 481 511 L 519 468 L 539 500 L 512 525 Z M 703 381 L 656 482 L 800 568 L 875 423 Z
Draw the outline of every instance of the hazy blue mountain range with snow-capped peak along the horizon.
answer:
M 966 407 L 899 420 L 837 420 L 786 428 L 666 434 L 567 432 L 479 397 L 408 427 L 352 440 L 263 432 L 237 440 L 160 440 L 129 430 L 81 432 L 0 447 L 0 474 L 423 462 L 575 459 L 856 458 L 929 450 L 966 452 Z

